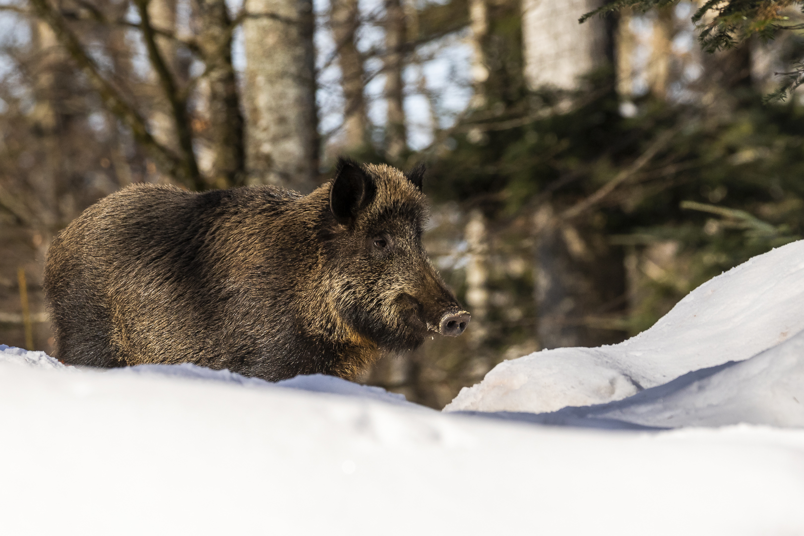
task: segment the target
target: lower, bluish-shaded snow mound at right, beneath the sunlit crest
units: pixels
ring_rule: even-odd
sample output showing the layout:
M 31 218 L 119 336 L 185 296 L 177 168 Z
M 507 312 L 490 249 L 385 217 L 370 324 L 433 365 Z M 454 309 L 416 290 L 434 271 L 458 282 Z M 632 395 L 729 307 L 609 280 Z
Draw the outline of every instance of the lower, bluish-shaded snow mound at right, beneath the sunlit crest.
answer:
M 696 370 L 625 400 L 568 407 L 545 417 L 556 424 L 592 418 L 650 427 L 804 427 L 804 332 L 746 361 Z

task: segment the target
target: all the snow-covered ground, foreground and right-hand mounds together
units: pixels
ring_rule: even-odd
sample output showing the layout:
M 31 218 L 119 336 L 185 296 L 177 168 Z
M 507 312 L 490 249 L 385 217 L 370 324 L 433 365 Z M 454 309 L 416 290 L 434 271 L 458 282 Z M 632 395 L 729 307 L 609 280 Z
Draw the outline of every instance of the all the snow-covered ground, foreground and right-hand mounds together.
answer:
M 457 413 L 0 345 L 0 534 L 804 534 L 802 270 L 776 249 L 626 343 L 499 365 Z

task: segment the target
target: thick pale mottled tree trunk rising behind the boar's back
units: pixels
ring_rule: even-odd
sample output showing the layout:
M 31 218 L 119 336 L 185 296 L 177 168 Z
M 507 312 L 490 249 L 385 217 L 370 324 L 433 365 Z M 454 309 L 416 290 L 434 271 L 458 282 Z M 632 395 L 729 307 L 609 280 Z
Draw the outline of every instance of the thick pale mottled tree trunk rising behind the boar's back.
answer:
M 314 17 L 310 0 L 248 0 L 248 183 L 310 192 L 318 174 Z

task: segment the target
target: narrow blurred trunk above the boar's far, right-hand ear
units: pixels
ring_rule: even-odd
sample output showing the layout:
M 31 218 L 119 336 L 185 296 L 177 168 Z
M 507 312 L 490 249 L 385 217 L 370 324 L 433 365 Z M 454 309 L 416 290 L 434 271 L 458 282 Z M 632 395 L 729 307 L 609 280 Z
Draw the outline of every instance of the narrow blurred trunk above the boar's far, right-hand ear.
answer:
M 404 46 L 407 29 L 400 0 L 385 2 L 385 98 L 388 101 L 385 150 L 398 160 L 408 149 L 404 124 Z

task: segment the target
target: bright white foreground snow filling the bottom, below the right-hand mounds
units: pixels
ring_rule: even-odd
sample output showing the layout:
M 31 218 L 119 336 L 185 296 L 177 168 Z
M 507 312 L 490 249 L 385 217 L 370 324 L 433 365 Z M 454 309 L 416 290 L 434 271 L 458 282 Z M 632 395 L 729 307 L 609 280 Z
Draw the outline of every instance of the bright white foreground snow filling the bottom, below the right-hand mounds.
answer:
M 545 427 L 8 354 L 2 534 L 804 533 L 802 430 Z

